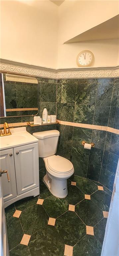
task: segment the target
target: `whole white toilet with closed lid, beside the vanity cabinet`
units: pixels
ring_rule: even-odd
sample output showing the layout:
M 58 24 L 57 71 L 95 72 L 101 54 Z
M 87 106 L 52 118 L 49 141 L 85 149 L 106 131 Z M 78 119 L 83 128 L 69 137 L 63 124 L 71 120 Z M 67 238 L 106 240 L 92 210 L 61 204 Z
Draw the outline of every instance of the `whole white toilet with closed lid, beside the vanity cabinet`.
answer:
M 67 179 L 74 173 L 74 168 L 68 159 L 55 155 L 60 132 L 57 130 L 35 132 L 33 136 L 39 140 L 39 157 L 43 158 L 47 170 L 43 182 L 54 196 L 66 197 Z

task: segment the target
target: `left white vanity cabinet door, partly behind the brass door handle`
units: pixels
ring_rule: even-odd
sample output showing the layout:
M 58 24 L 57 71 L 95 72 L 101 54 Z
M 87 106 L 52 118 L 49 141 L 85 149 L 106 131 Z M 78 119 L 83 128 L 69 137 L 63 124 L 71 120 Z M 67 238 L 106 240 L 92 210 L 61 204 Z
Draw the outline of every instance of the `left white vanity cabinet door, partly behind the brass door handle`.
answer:
M 7 170 L 10 178 L 8 182 L 7 173 L 1 177 L 4 202 L 17 196 L 16 176 L 14 166 L 13 149 L 5 149 L 0 151 L 0 169 Z

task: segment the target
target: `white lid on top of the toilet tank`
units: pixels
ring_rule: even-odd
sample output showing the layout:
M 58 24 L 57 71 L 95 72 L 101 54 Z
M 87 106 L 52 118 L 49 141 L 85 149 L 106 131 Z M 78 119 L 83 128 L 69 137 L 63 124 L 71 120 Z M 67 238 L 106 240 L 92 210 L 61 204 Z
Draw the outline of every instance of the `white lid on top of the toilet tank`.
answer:
M 60 136 L 60 132 L 58 130 L 50 130 L 44 132 L 34 132 L 33 136 L 37 139 L 46 139 L 50 137 Z

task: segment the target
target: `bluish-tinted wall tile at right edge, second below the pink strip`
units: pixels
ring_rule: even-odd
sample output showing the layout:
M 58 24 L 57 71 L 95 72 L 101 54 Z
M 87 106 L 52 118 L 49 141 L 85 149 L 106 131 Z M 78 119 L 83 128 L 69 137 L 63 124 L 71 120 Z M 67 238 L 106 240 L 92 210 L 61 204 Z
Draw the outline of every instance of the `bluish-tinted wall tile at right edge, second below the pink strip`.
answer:
M 107 162 L 107 170 L 112 172 L 113 174 L 116 173 L 117 164 L 118 164 L 119 157 L 112 153 L 109 153 L 108 162 Z

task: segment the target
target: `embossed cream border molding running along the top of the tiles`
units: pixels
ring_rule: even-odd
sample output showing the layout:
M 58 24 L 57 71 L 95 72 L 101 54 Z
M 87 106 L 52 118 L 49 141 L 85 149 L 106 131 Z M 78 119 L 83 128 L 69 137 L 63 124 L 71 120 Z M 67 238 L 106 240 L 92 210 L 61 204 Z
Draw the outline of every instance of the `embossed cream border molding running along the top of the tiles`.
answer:
M 0 71 L 46 78 L 118 77 L 119 66 L 100 68 L 51 69 L 0 59 Z

